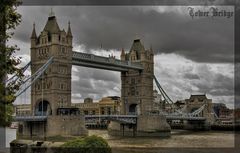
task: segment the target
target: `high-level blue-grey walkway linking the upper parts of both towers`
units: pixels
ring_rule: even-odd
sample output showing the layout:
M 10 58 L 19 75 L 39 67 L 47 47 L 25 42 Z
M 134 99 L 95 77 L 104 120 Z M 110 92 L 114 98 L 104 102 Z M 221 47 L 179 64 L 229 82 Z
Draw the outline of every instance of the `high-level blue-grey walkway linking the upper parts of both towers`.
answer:
M 72 51 L 72 65 L 99 68 L 112 71 L 143 70 L 140 62 L 129 62 L 115 57 L 103 57 L 94 54 Z

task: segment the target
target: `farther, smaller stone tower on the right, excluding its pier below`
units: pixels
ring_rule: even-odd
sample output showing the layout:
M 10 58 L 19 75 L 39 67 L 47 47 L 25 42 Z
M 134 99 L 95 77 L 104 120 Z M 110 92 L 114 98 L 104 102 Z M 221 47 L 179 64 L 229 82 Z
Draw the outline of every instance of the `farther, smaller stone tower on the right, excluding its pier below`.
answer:
M 144 114 L 153 106 L 154 54 L 145 50 L 140 39 L 133 41 L 129 53 L 122 50 L 121 60 L 141 63 L 142 71 L 121 72 L 122 114 Z

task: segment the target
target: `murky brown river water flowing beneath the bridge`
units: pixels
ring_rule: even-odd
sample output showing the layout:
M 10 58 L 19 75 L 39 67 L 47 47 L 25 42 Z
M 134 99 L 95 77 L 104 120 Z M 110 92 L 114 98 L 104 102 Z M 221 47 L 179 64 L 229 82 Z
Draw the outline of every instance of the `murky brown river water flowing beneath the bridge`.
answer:
M 168 138 L 153 137 L 111 137 L 107 130 L 89 130 L 89 135 L 106 139 L 112 148 L 233 148 L 232 131 L 184 131 L 173 130 Z M 16 139 L 15 129 L 6 129 L 6 147 Z

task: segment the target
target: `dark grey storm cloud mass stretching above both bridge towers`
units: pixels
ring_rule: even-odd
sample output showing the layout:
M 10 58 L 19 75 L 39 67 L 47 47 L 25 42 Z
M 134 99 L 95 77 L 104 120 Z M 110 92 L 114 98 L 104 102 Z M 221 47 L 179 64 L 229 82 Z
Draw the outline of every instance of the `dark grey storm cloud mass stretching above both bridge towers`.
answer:
M 75 43 L 87 49 L 127 49 L 137 34 L 156 54 L 177 53 L 197 62 L 233 62 L 233 18 L 192 19 L 187 7 L 182 14 L 169 9 L 160 13 L 148 6 L 54 7 L 61 27 L 66 29 L 70 20 Z M 29 42 L 33 21 L 41 31 L 49 10 L 22 8 L 24 25 L 16 38 Z

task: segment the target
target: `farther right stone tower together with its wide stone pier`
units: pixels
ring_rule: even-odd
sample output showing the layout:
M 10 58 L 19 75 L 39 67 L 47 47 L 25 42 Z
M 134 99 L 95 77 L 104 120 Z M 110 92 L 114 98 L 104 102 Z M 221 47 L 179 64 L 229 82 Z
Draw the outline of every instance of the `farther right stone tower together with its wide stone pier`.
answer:
M 121 114 L 137 115 L 136 124 L 111 122 L 110 135 L 126 136 L 169 136 L 171 128 L 165 116 L 150 114 L 153 110 L 153 50 L 145 50 L 140 39 L 135 39 L 128 53 L 122 50 L 121 60 L 131 64 L 142 64 L 143 70 L 121 72 Z

